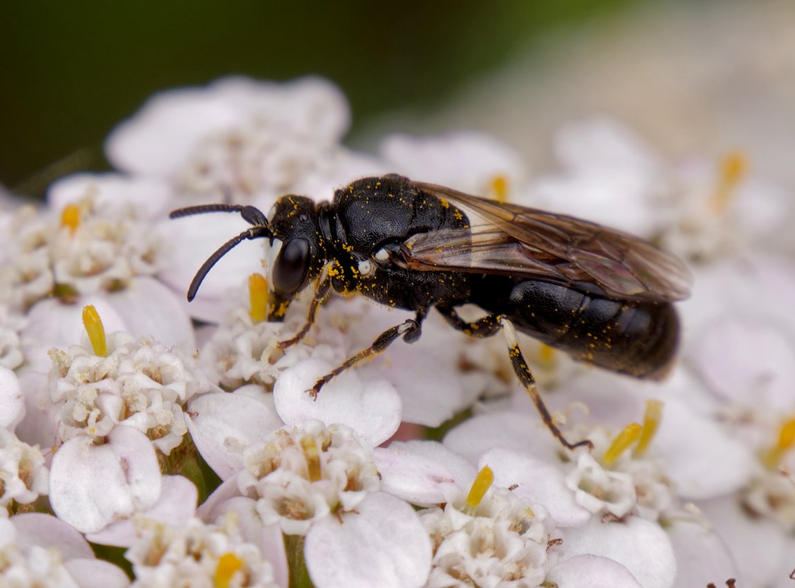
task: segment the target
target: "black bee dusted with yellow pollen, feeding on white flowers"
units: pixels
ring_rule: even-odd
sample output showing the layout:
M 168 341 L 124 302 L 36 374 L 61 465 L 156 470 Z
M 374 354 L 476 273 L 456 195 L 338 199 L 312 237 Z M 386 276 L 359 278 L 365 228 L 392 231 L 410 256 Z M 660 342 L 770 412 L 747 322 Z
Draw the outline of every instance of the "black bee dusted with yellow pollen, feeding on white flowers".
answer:
M 306 325 L 281 342 L 283 348 L 308 332 L 330 288 L 416 313 L 320 378 L 313 395 L 397 338 L 417 341 L 432 307 L 467 335 L 487 337 L 504 329 L 519 380 L 568 448 L 589 442 L 568 443 L 556 427 L 514 326 L 577 360 L 634 377 L 662 377 L 673 362 L 679 321 L 671 303 L 688 296 L 688 269 L 670 253 L 618 230 L 397 175 L 357 180 L 335 191 L 332 203 L 282 196 L 270 219 L 255 207 L 230 204 L 182 208 L 171 217 L 216 211 L 238 212 L 252 226 L 205 261 L 188 300 L 232 247 L 268 238 L 277 248 L 269 318 L 281 319 L 298 292 L 310 283 L 315 288 Z M 467 322 L 456 312 L 463 304 L 476 304 L 487 315 Z

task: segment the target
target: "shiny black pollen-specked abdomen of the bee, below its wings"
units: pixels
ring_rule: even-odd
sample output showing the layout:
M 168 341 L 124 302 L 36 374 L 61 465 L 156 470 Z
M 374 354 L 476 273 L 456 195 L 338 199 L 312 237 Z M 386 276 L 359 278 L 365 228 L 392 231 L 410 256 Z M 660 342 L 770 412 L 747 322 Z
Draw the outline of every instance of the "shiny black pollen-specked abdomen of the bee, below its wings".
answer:
M 634 377 L 665 376 L 677 349 L 673 304 L 612 300 L 523 280 L 510 291 L 516 327 L 573 358 Z

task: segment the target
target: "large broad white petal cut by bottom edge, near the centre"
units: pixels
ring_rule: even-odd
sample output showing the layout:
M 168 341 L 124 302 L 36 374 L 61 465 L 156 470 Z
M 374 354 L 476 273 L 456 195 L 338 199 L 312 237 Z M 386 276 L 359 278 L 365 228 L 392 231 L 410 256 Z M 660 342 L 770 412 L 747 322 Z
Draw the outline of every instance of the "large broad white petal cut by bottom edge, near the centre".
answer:
M 411 588 L 431 569 L 431 542 L 417 513 L 390 494 L 369 494 L 355 513 L 312 525 L 304 548 L 317 588 Z

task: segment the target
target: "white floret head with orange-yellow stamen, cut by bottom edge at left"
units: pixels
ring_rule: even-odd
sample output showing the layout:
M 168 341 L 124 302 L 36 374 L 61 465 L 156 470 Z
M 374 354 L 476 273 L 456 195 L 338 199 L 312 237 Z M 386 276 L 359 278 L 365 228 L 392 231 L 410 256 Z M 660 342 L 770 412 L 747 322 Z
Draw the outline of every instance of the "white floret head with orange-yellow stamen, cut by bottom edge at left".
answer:
M 242 537 L 235 516 L 219 524 L 192 518 L 180 526 L 142 520 L 138 529 L 140 538 L 126 552 L 133 586 L 277 586 L 268 554 Z

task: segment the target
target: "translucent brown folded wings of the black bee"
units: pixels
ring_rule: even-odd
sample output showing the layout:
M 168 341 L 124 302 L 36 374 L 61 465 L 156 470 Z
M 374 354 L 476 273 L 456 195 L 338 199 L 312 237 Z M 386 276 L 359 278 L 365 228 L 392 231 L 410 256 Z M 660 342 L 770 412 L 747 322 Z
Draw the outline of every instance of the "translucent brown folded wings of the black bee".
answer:
M 409 238 L 404 262 L 413 269 L 526 277 L 618 300 L 669 302 L 690 293 L 692 278 L 678 257 L 630 234 L 436 184 L 412 184 L 459 208 L 471 224 Z

